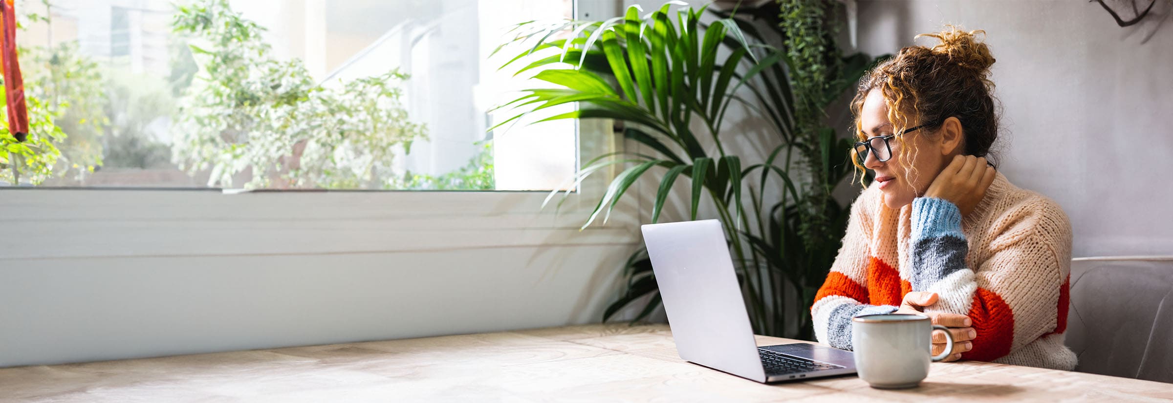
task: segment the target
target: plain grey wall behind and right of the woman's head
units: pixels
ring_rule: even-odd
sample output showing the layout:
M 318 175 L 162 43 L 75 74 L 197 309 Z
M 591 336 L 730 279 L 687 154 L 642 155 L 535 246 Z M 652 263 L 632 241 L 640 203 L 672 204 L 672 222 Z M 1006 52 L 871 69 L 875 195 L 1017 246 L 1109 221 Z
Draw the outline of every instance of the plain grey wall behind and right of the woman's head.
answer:
M 1006 177 L 1063 206 L 1074 257 L 1173 254 L 1173 2 L 1158 2 L 1121 28 L 1087 1 L 860 1 L 859 47 L 984 29 Z

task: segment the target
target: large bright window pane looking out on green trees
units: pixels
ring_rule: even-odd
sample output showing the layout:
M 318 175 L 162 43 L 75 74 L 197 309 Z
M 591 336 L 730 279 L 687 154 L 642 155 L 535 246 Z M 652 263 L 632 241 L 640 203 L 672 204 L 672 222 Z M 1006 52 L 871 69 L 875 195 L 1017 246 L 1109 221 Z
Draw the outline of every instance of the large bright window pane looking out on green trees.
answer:
M 0 182 L 551 190 L 576 169 L 575 123 L 487 131 L 509 117 L 491 108 L 531 86 L 497 70 L 520 49 L 489 55 L 513 25 L 571 18 L 572 7 L 18 1 L 22 70 L 36 98 L 29 115 L 42 142 L 0 162 Z

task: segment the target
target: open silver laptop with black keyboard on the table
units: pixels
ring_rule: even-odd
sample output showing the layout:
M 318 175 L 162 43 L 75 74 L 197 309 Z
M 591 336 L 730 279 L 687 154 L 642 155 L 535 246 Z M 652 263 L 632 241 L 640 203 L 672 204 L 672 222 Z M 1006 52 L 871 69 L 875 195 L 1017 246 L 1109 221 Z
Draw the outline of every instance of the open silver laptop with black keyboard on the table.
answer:
M 649 224 L 643 232 L 680 358 L 758 382 L 855 373 L 850 351 L 758 347 L 720 221 Z

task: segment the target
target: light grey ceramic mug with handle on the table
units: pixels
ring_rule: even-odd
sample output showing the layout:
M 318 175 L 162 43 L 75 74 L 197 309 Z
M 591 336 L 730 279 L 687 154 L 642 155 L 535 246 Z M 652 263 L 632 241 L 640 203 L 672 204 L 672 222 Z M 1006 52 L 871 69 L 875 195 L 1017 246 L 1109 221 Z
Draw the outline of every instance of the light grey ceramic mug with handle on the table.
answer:
M 945 330 L 948 344 L 933 355 L 933 329 Z M 929 376 L 929 362 L 952 351 L 949 329 L 929 316 L 909 314 L 862 315 L 852 319 L 852 346 L 860 378 L 873 388 L 913 388 Z

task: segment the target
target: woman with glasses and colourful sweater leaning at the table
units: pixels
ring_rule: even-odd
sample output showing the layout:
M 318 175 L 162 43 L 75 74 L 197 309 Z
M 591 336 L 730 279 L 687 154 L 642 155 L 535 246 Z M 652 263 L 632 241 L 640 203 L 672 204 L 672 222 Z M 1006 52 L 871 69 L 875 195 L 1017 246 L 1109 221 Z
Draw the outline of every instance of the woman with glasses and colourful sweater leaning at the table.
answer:
M 923 313 L 957 341 L 949 361 L 1070 370 L 1071 225 L 986 163 L 995 60 L 978 33 L 917 35 L 941 43 L 903 48 L 860 80 L 853 153 L 875 180 L 811 307 L 815 333 L 850 349 L 853 316 Z M 945 347 L 940 332 L 933 342 L 933 354 Z

